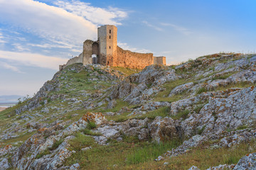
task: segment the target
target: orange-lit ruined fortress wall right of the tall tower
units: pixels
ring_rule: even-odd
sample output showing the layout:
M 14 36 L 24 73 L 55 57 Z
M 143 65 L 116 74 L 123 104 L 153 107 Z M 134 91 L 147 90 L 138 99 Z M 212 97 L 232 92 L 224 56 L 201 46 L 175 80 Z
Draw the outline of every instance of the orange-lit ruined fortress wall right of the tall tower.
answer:
M 154 64 L 152 53 L 138 53 L 123 50 L 117 46 L 117 59 L 114 60 L 114 67 L 128 67 L 131 69 L 144 69 L 144 67 Z

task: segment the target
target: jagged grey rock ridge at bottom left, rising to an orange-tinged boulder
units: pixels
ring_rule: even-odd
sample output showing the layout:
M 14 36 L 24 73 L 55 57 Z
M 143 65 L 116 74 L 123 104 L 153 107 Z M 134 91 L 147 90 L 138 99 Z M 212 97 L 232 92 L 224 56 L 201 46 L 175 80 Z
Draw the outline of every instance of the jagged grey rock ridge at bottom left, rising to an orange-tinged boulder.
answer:
M 51 128 L 39 129 L 38 133 L 30 137 L 18 148 L 16 154 L 12 157 L 12 164 L 18 169 L 57 169 L 58 166 L 63 164 L 65 159 L 75 153 L 75 151 L 68 149 L 70 146 L 68 140 L 74 138 L 74 132 L 85 129 L 87 121 L 100 125 L 105 121 L 105 117 L 102 113 L 87 113 L 80 120 L 69 125 L 68 128 L 63 129 L 64 124 L 56 124 Z M 60 132 L 58 132 L 58 135 L 55 135 L 57 130 L 60 130 Z M 36 158 L 38 154 L 52 147 L 54 142 L 62 139 L 63 142 L 57 149 L 50 151 L 50 153 L 39 159 Z M 26 157 L 27 154 L 31 154 L 31 156 Z

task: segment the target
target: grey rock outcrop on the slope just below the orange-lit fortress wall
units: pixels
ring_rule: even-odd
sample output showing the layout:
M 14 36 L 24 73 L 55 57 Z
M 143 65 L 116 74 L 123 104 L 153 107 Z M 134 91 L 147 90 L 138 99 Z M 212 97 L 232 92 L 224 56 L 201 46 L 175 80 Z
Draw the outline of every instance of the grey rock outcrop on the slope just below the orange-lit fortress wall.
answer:
M 145 103 L 162 90 L 167 81 L 181 79 L 174 70 L 165 70 L 160 65 L 151 65 L 142 72 L 132 74 L 113 88 L 110 98 L 124 98 L 131 104 Z

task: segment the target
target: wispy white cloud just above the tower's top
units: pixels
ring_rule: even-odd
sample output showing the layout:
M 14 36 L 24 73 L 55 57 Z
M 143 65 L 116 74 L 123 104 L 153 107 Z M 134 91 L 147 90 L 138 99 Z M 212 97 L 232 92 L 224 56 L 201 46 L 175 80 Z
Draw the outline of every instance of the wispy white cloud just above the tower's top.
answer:
M 127 17 L 127 12 L 119 8 L 97 8 L 81 1 L 56 1 L 53 4 L 97 25 L 121 25 L 118 21 Z

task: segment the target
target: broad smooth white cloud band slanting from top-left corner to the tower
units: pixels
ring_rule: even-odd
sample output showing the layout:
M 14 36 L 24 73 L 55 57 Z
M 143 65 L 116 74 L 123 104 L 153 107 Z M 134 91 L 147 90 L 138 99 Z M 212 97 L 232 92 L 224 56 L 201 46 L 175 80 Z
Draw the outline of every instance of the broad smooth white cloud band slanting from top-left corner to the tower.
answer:
M 82 16 L 32 0 L 0 1 L 1 21 L 46 40 L 80 45 L 96 38 L 97 26 Z

